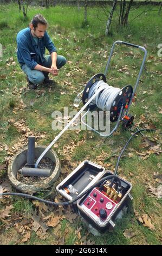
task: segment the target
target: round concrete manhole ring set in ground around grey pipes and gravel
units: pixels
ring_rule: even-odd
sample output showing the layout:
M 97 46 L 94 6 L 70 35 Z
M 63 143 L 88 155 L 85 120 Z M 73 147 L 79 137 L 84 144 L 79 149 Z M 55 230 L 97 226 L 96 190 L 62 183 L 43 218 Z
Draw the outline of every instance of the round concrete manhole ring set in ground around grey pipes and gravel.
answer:
M 46 147 L 43 146 L 37 146 L 35 148 L 35 157 L 38 159 L 38 157 L 43 153 L 43 151 L 46 149 Z M 16 179 L 17 172 L 19 169 L 24 166 L 24 164 L 27 162 L 27 150 L 28 148 L 24 148 L 15 155 L 14 159 L 12 159 L 12 162 L 9 164 L 8 168 L 8 177 L 11 181 L 12 186 L 16 188 L 16 190 L 24 192 L 24 193 L 30 193 L 33 194 L 38 191 L 44 191 L 47 190 L 51 185 L 54 184 L 54 182 L 59 178 L 60 175 L 60 161 L 59 157 L 55 153 L 54 150 L 50 149 L 46 153 L 44 157 L 48 157 L 50 160 L 52 160 L 55 163 L 55 169 L 53 170 L 53 173 L 51 175 L 42 181 L 36 182 L 36 184 L 24 184 Z

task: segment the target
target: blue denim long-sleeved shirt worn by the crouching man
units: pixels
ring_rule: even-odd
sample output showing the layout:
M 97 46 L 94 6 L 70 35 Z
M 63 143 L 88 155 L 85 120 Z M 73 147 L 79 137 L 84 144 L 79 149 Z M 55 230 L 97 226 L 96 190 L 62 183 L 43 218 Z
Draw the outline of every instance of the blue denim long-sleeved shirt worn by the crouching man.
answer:
M 44 62 L 46 48 L 50 54 L 57 51 L 47 32 L 44 33 L 43 38 L 38 39 L 38 44 L 36 44 L 30 28 L 25 28 L 18 32 L 16 41 L 18 62 L 21 67 L 26 64 L 31 70 L 37 64 Z

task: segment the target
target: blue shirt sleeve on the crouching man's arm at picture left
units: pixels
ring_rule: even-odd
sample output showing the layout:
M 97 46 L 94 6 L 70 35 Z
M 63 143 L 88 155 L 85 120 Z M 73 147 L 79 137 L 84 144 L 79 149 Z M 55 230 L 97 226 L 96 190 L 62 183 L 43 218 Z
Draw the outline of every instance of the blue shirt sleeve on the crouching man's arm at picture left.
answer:
M 24 42 L 17 40 L 17 54 L 21 54 L 21 58 L 23 59 L 24 63 L 28 66 L 29 69 L 33 70 L 35 66 L 38 64 L 35 62 L 34 59 L 31 59 L 30 51 Z

